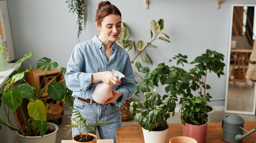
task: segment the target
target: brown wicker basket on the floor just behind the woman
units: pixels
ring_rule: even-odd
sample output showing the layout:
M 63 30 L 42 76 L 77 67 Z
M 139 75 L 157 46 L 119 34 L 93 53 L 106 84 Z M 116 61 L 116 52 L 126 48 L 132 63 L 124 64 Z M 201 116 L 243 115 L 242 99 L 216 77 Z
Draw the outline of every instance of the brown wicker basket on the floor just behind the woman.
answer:
M 130 103 L 134 100 L 134 97 L 129 97 L 121 106 L 120 106 L 120 112 L 121 112 L 121 120 L 122 121 L 130 121 L 132 118 L 129 116 L 129 108 Z

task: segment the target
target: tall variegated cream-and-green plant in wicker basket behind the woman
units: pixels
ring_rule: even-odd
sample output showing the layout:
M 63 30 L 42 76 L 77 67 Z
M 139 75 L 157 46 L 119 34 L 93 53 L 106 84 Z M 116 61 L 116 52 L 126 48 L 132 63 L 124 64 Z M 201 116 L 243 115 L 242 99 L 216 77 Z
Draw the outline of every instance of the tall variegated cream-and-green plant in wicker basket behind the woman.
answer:
M 121 23 L 122 25 L 122 31 L 120 32 L 120 36 L 118 37 L 117 43 L 121 45 L 124 49 L 127 49 L 127 52 L 130 52 L 131 50 L 134 51 L 135 57 L 131 59 L 131 63 L 134 65 L 135 69 L 139 70 L 141 68 L 141 64 L 139 61 L 136 61 L 137 57 L 140 57 L 143 62 L 149 62 L 150 64 L 153 64 L 153 61 L 150 57 L 150 55 L 146 52 L 145 49 L 147 48 L 158 48 L 157 45 L 154 45 L 153 42 L 155 40 L 163 40 L 166 42 L 169 42 L 169 36 L 164 34 L 162 31 L 165 28 L 165 21 L 163 19 L 159 19 L 158 21 L 152 20 L 150 22 L 150 34 L 151 34 L 151 40 L 150 42 L 145 42 L 143 40 L 139 40 L 136 44 L 135 41 L 129 40 L 129 29 L 128 25 L 124 22 Z M 143 79 L 137 71 L 133 70 L 134 74 L 139 77 L 139 79 Z M 135 81 L 137 82 L 137 81 Z M 134 94 L 139 96 L 138 94 Z M 134 97 L 129 97 L 121 106 L 120 106 L 120 112 L 121 112 L 121 120 L 122 121 L 129 121 L 132 118 L 129 116 L 129 107 L 130 103 L 134 100 Z

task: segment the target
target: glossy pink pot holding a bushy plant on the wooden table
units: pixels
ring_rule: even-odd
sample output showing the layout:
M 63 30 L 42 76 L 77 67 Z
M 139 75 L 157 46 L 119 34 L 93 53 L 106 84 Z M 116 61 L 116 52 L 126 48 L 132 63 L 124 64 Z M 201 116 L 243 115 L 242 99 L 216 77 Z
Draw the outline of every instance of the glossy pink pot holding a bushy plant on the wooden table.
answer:
M 205 143 L 207 123 L 199 126 L 185 123 L 185 125 L 183 125 L 182 133 L 183 136 L 194 138 L 198 143 Z

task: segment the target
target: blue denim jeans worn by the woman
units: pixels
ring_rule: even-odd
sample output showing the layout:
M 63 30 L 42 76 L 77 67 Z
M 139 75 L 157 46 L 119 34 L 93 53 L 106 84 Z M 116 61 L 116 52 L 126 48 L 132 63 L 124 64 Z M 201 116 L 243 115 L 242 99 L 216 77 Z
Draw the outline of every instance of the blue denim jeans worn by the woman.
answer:
M 108 122 L 109 127 L 104 128 L 102 126 L 96 127 L 99 133 L 100 139 L 114 139 L 116 143 L 116 130 L 121 127 L 121 114 L 119 106 L 114 103 L 98 104 L 98 103 L 86 103 L 75 98 L 74 108 L 76 108 L 87 123 L 96 122 Z M 72 115 L 73 116 L 73 115 Z M 73 122 L 73 121 L 72 121 Z M 82 132 L 85 133 L 85 129 L 82 128 Z M 96 132 L 89 131 L 89 133 L 96 134 Z M 72 128 L 72 136 L 79 134 L 77 128 Z

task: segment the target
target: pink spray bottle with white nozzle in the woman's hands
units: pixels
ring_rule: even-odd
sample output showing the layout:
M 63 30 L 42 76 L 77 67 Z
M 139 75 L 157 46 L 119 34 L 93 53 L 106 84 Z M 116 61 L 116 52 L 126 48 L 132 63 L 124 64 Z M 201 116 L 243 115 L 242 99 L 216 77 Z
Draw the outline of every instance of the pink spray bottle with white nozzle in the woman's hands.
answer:
M 117 79 L 121 80 L 121 78 L 124 77 L 124 75 L 121 72 L 115 70 L 112 71 L 114 72 L 114 75 L 117 76 Z M 113 96 L 112 87 L 105 83 L 98 84 L 95 87 L 92 96 L 94 101 L 96 101 L 99 104 L 103 104 Z

